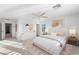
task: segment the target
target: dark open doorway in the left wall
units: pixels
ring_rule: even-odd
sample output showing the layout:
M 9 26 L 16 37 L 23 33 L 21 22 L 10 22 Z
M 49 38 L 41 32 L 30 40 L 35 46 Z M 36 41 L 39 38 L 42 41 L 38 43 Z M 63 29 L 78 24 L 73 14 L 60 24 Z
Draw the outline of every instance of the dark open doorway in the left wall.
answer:
M 5 38 L 12 38 L 12 24 L 5 23 Z

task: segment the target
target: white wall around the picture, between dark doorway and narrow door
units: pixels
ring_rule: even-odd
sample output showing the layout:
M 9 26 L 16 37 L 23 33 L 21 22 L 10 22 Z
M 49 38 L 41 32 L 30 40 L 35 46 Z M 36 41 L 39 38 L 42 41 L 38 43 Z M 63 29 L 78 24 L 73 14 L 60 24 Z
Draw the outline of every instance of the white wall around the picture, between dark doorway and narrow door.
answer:
M 28 17 L 21 17 L 17 22 L 17 39 L 26 40 L 35 37 L 35 22 L 28 19 Z M 33 30 L 31 32 L 27 31 L 26 24 L 33 24 Z

